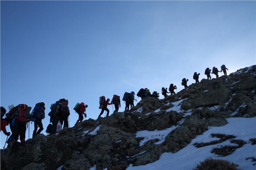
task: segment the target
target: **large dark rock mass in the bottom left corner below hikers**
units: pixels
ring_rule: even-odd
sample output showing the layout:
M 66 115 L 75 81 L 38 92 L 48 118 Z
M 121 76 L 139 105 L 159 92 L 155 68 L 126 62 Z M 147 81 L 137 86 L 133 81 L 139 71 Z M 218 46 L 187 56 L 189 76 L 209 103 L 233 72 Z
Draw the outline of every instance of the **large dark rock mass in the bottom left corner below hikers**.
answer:
M 13 170 L 22 169 L 29 163 L 43 163 L 45 169 L 56 169 L 67 159 L 66 156 L 70 152 L 71 150 L 64 143 L 56 143 L 40 134 L 27 140 L 26 145 L 19 147 L 17 151 L 11 153 L 11 149 L 4 150 L 1 163 L 7 169 Z

